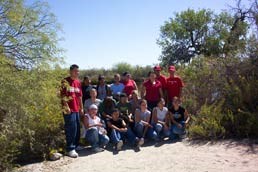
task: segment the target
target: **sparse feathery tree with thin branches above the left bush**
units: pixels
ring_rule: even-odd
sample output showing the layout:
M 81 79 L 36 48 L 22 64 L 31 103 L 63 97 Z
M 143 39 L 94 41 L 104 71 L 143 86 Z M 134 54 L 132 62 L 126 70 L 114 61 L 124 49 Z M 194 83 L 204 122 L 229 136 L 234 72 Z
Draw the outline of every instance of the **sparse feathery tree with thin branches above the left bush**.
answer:
M 0 54 L 18 69 L 55 61 L 61 49 L 60 27 L 46 3 L 25 6 L 23 0 L 0 0 Z

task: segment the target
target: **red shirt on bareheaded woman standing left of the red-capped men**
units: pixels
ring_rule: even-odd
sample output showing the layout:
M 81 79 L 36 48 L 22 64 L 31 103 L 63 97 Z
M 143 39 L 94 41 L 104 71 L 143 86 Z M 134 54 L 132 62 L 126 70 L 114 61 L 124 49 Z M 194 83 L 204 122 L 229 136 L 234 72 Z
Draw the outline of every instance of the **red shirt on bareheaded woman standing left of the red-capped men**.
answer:
M 156 80 L 155 84 L 152 84 L 150 80 L 143 83 L 143 86 L 146 88 L 145 99 L 147 101 L 159 101 L 160 92 L 159 89 L 162 88 L 161 83 Z

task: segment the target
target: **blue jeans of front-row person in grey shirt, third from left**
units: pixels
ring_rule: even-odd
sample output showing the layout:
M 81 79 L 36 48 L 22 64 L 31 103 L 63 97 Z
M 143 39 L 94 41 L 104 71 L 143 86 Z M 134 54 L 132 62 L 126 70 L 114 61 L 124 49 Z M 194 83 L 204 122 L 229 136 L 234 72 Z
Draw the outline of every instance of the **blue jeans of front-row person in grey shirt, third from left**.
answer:
M 143 123 L 138 122 L 135 124 L 134 130 L 136 132 L 137 137 L 142 138 L 143 137 L 143 132 L 144 132 L 145 126 Z M 153 128 L 148 127 L 146 137 L 149 139 L 157 139 L 158 135 L 157 133 L 153 130 Z

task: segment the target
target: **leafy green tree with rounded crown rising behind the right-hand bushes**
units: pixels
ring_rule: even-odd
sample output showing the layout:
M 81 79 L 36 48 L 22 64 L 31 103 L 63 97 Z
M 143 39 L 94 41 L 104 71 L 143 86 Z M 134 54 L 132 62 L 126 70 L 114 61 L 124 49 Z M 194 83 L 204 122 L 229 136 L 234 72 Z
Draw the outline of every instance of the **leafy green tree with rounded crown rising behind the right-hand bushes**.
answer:
M 163 65 L 189 63 L 197 55 L 228 57 L 243 52 L 251 26 L 257 26 L 257 0 L 249 8 L 237 2 L 231 11 L 188 9 L 161 26 L 158 44 Z

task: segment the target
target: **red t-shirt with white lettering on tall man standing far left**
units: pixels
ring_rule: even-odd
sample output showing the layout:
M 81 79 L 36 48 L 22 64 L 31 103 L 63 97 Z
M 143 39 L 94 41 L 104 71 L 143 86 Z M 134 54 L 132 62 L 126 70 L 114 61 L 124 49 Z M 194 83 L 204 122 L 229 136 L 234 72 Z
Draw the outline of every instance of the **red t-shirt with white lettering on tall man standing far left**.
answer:
M 71 112 L 79 112 L 80 110 L 80 98 L 82 97 L 81 83 L 79 80 L 73 80 L 71 77 L 64 79 L 69 86 L 62 88 L 62 96 L 66 96 L 69 100 L 67 102 Z

